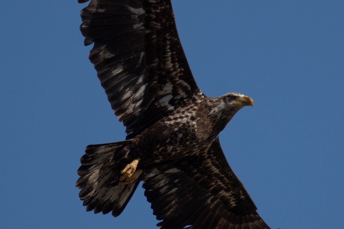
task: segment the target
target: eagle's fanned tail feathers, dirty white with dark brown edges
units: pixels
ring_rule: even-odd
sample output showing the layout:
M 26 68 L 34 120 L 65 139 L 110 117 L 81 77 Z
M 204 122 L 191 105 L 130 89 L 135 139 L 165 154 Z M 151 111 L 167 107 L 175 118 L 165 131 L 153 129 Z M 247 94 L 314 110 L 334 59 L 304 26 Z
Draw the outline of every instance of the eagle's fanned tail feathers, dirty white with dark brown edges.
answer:
M 122 213 L 135 192 L 140 178 L 127 185 L 119 185 L 120 170 L 129 161 L 131 140 L 113 142 L 86 147 L 84 156 L 80 159 L 81 166 L 77 171 L 80 178 L 75 183 L 81 188 L 79 197 L 87 211 L 113 216 Z

